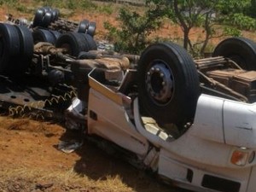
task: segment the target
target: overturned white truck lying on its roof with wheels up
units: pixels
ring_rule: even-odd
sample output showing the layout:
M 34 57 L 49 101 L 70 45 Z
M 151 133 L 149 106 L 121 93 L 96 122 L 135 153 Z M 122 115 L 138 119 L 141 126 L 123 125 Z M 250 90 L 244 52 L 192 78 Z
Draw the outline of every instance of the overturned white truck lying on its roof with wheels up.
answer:
M 227 38 L 193 60 L 173 43 L 120 55 L 79 32 L 56 44 L 34 44 L 30 29 L 4 23 L 0 34 L 2 109 L 66 113 L 86 137 L 184 189 L 255 191 L 253 41 Z

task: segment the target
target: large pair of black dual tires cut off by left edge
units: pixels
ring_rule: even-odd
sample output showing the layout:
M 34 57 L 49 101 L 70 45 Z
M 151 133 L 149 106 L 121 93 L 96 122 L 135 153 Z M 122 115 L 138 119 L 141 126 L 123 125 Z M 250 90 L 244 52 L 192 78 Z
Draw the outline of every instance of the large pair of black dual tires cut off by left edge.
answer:
M 25 73 L 32 55 L 32 32 L 26 26 L 0 23 L 0 73 Z

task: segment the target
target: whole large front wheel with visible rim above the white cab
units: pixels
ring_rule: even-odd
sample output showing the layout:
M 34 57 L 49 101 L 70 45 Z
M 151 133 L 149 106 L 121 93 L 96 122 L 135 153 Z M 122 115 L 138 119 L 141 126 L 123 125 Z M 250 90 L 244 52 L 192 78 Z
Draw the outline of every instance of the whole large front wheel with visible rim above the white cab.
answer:
M 160 125 L 191 122 L 200 94 L 195 63 L 185 49 L 172 43 L 153 44 L 137 67 L 140 108 Z

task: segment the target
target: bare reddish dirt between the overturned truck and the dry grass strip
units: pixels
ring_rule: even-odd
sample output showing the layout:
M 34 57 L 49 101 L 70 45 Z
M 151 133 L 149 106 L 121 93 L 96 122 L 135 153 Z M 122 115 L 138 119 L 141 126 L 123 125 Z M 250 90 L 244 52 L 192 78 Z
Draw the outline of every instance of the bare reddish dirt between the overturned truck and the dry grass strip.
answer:
M 125 191 L 177 191 L 154 180 L 154 177 L 137 170 L 125 161 L 106 154 L 92 143 L 85 142 L 81 148 L 72 154 L 65 154 L 58 150 L 57 146 L 61 140 L 68 141 L 75 134 L 75 132 L 66 132 L 61 125 L 49 122 L 31 119 L 11 119 L 0 116 L 0 178 L 4 176 L 1 172 L 3 174 L 4 172 L 12 172 L 11 170 L 20 167 L 31 170 L 31 172 L 47 170 L 53 173 L 56 172 L 56 174 L 73 170 L 81 177 L 88 177 L 95 182 L 98 180 L 104 181 L 108 176 L 118 176 L 121 178 L 121 182 L 130 188 Z M 13 177 L 14 180 L 17 179 L 15 176 Z M 18 178 L 16 184 L 21 182 L 20 177 Z M 38 180 L 37 178 L 36 182 L 39 181 L 41 183 L 42 181 L 43 183 L 45 182 L 44 179 Z M 22 182 L 31 183 L 31 181 L 26 180 L 26 177 L 22 178 Z M 56 183 L 54 184 L 56 185 Z M 0 191 L 6 190 L 1 188 L 0 182 Z M 99 190 L 91 189 L 90 187 L 88 191 Z

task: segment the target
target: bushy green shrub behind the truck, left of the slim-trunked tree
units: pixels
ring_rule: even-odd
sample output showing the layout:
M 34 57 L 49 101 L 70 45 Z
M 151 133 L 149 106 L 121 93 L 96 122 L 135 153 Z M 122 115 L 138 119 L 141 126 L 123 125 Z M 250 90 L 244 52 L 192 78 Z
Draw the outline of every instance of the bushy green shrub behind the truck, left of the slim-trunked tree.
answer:
M 115 50 L 140 54 L 150 43 L 148 36 L 159 28 L 160 18 L 163 16 L 157 9 L 148 8 L 143 15 L 129 9 L 119 10 L 119 28 L 105 22 L 108 38 L 114 41 Z

